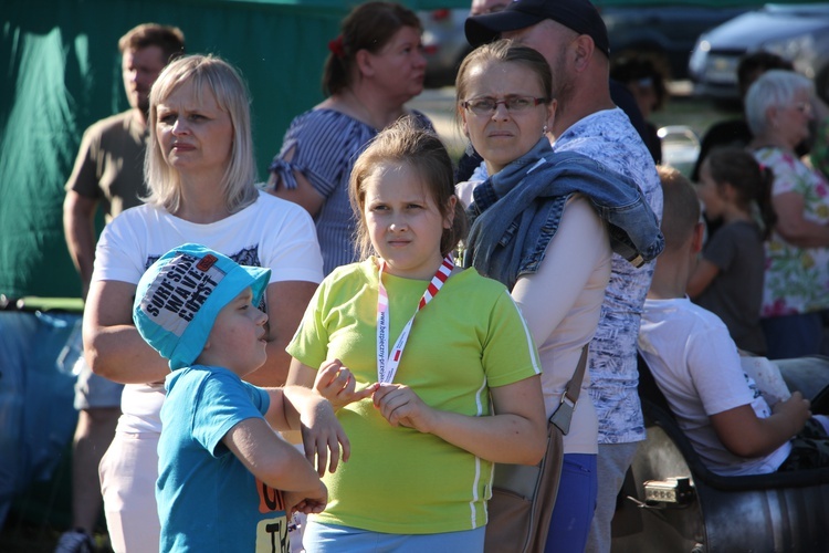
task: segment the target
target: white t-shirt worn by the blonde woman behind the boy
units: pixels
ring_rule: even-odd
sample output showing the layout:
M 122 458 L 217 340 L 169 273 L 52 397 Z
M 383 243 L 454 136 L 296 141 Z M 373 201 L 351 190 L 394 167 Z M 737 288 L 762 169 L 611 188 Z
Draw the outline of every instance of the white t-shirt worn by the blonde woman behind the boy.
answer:
M 323 260 L 308 213 L 260 191 L 251 206 L 210 225 L 189 222 L 147 205 L 127 209 L 101 236 L 92 281 L 137 285 L 153 262 L 186 242 L 204 244 L 241 264 L 267 267 L 270 282 L 318 283 L 323 279 Z M 128 384 L 120 401 L 118 431 L 161 431 L 164 384 Z

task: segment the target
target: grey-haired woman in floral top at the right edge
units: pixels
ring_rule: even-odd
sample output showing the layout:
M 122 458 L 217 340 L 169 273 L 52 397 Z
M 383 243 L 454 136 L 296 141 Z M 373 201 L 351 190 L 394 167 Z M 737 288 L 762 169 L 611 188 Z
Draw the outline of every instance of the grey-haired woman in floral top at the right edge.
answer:
M 774 171 L 777 225 L 766 242 L 760 324 L 770 358 L 820 353 L 829 309 L 829 182 L 800 161 L 809 137 L 815 86 L 793 71 L 767 71 L 748 88 L 748 147 Z

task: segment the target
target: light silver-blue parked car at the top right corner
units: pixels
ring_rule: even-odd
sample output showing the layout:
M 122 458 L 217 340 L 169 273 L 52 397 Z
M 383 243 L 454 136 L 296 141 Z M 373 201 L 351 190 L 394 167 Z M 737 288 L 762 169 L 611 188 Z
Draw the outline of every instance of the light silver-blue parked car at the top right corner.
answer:
M 702 34 L 689 62 L 694 93 L 736 100 L 739 59 L 757 51 L 791 61 L 829 98 L 829 4 L 767 4 Z

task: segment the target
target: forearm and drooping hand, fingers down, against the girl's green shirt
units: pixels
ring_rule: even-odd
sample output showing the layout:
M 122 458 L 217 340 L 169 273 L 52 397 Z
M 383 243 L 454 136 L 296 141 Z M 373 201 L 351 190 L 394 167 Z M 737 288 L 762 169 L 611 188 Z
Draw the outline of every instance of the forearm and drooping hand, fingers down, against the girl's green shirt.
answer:
M 303 386 L 266 390 L 271 396 L 271 406 L 265 419 L 277 430 L 302 431 L 305 457 L 312 465 L 316 457 L 319 476 L 325 473 L 326 465 L 330 472 L 337 470 L 340 448 L 343 461 L 348 460 L 351 446 L 327 399 Z

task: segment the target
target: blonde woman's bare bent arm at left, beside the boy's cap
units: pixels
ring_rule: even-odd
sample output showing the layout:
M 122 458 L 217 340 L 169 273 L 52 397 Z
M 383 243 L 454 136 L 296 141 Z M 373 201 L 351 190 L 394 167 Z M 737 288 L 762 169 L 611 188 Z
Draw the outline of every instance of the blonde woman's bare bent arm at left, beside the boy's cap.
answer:
M 84 353 L 92 371 L 122 384 L 161 382 L 167 359 L 147 344 L 133 324 L 136 285 L 97 281 L 84 309 Z

